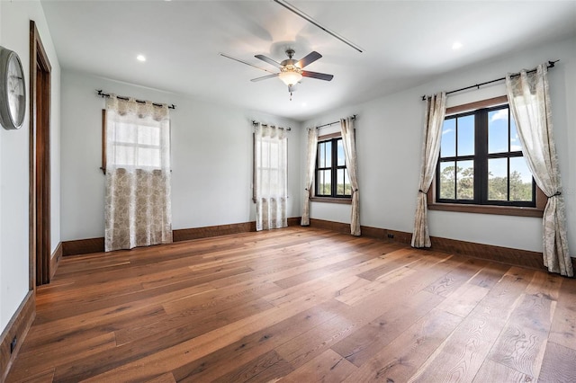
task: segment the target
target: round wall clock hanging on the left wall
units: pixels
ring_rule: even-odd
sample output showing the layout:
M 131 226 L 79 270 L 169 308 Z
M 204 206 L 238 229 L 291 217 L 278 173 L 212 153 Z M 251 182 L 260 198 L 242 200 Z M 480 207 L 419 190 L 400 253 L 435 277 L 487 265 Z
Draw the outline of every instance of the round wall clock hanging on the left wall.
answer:
M 0 47 L 0 122 L 4 129 L 20 129 L 26 112 L 26 86 L 20 58 Z

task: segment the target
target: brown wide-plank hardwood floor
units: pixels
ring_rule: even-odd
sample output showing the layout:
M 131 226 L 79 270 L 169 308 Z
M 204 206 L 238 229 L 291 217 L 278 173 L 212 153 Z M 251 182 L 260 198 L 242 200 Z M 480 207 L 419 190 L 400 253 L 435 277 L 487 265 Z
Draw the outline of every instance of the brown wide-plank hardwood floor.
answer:
M 64 257 L 8 381 L 574 382 L 576 280 L 305 227 Z

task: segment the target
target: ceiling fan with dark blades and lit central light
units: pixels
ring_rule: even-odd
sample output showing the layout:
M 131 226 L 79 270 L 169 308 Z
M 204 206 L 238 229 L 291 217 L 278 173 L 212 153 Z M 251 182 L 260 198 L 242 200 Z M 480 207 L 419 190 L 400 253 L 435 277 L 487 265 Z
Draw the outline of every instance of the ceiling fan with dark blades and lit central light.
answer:
M 254 82 L 262 81 L 262 80 L 266 80 L 268 78 L 273 78 L 273 77 L 280 78 L 282 80 L 282 82 L 288 86 L 288 92 L 290 92 L 290 100 L 292 100 L 292 93 L 296 90 L 295 85 L 297 83 L 299 83 L 300 80 L 302 80 L 302 77 L 316 78 L 316 79 L 324 80 L 324 81 L 330 81 L 334 77 L 333 75 L 328 75 L 326 73 L 319 73 L 319 72 L 311 72 L 308 70 L 302 70 L 304 67 L 310 65 L 311 63 L 313 63 L 314 61 L 316 61 L 322 57 L 322 55 L 320 55 L 320 53 L 318 53 L 317 51 L 312 51 L 311 53 L 306 55 L 304 58 L 301 58 L 300 60 L 296 60 L 293 58 L 294 53 L 295 53 L 294 49 L 286 49 L 286 56 L 288 56 L 288 58 L 282 62 L 277 62 L 277 61 L 273 60 L 272 58 L 267 58 L 264 55 L 256 55 L 255 56 L 255 58 L 259 58 L 262 61 L 280 69 L 280 72 L 278 72 L 278 73 L 270 72 L 269 70 L 267 70 L 265 68 L 257 67 L 255 65 L 252 65 L 252 64 L 250 64 L 246 61 L 240 60 L 238 58 L 232 58 L 232 59 L 236 60 L 238 62 L 241 62 L 243 64 L 247 64 L 251 67 L 257 67 L 258 69 L 262 69 L 262 70 L 265 70 L 266 72 L 272 73 L 272 75 L 253 78 L 251 81 L 254 81 Z M 231 57 L 224 55 L 222 53 L 220 53 L 220 55 L 224 56 L 226 58 L 231 58 Z

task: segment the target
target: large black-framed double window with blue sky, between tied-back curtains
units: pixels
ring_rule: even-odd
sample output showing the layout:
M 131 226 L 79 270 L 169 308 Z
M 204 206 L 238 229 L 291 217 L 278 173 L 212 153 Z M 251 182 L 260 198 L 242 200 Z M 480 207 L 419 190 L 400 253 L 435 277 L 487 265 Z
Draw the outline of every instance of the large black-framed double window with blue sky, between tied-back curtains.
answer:
M 509 105 L 501 103 L 502 98 L 499 100 L 496 106 L 484 104 L 473 111 L 452 111 L 452 114 L 446 111 L 435 200 L 430 209 L 461 205 L 454 210 L 496 214 L 515 214 L 511 209 L 539 210 L 538 202 L 543 195 L 539 196 L 522 155 Z M 465 205 L 481 209 L 462 209 Z M 497 209 L 490 211 L 484 207 Z M 519 215 L 533 214 L 525 211 Z

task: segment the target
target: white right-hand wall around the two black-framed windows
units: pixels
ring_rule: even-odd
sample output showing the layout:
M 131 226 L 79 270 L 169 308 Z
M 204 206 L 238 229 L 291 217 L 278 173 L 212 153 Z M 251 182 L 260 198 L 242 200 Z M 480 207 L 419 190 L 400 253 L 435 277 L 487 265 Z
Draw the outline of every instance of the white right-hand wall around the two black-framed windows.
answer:
M 554 134 L 563 195 L 566 200 L 571 254 L 576 255 L 576 38 L 547 44 L 495 62 L 478 63 L 464 71 L 439 76 L 435 81 L 390 96 L 331 111 L 303 124 L 305 127 L 358 114 L 356 148 L 363 226 L 412 232 L 419 181 L 424 120 L 423 94 L 454 90 L 533 68 L 549 59 L 560 59 L 550 69 Z M 455 105 L 505 94 L 503 83 L 448 97 Z M 322 134 L 322 132 L 320 132 Z M 302 148 L 306 138 L 302 136 Z M 304 149 L 302 149 L 304 150 Z M 304 165 L 302 164 L 302 174 Z M 301 178 L 303 184 L 303 176 Z M 311 218 L 350 222 L 350 207 L 312 202 Z M 522 218 L 429 211 L 432 236 L 542 251 L 541 218 Z

